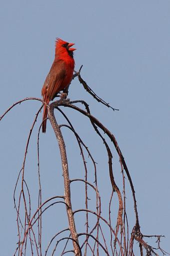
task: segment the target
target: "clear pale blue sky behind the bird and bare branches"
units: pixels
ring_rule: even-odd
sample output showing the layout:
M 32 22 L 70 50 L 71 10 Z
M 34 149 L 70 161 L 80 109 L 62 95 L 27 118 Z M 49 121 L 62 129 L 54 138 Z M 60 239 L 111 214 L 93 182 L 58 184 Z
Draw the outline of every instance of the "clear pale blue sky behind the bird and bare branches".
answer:
M 74 42 L 77 48 L 75 69 L 83 64 L 82 78 L 119 111 L 113 112 L 97 103 L 76 79 L 71 83 L 69 98 L 88 102 L 91 113 L 114 134 L 133 181 L 141 232 L 165 235 L 161 246 L 168 251 L 169 28 L 168 0 L 3 0 L 0 7 L 0 115 L 19 99 L 41 97 L 41 87 L 53 61 L 56 37 Z M 24 102 L 0 122 L 0 255 L 3 256 L 12 255 L 16 247 L 13 189 L 22 165 L 28 132 L 39 106 L 39 102 Z M 107 159 L 101 141 L 92 132 L 87 119 L 74 111 L 63 110 L 98 163 L 100 194 L 110 196 Z M 57 115 L 60 121 L 60 115 Z M 33 202 L 38 190 L 36 136 L 40 122 L 41 115 L 31 138 L 25 169 Z M 75 140 L 65 129 L 63 134 L 70 176 L 83 177 Z M 43 199 L 62 194 L 57 152 L 53 131 L 47 123 L 46 134 L 40 135 Z M 121 184 L 120 169 L 116 164 L 118 159 L 113 153 L 116 182 Z M 133 225 L 135 219 L 130 198 L 127 185 L 128 218 Z M 81 201 L 81 193 L 78 193 L 77 202 Z M 36 209 L 35 206 L 32 208 Z M 57 214 L 62 216 L 62 211 Z M 49 226 L 58 225 L 56 220 L 56 223 L 53 221 L 56 212 L 51 210 L 49 214 L 43 232 L 49 232 Z M 78 218 L 76 220 L 78 222 Z M 152 238 L 153 244 L 154 240 Z

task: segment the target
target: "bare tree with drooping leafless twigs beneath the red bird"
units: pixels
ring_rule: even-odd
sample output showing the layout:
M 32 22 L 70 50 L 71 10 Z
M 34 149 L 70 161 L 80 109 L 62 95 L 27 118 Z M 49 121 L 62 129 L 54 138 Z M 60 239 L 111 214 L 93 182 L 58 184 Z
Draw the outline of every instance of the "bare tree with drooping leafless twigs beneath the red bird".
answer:
M 82 67 L 82 66 L 81 66 Z M 80 68 L 81 69 L 81 68 Z M 73 78 L 77 77 L 79 82 L 83 85 L 84 89 L 90 93 L 98 102 L 103 105 L 110 107 L 112 110 L 117 110 L 111 107 L 108 103 L 103 101 L 98 97 L 94 91 L 86 84 L 86 82 L 80 76 L 80 70 L 75 72 Z M 17 247 L 14 251 L 14 255 L 64 255 L 64 254 L 74 254 L 74 255 L 162 255 L 168 254 L 160 247 L 160 238 L 162 235 L 144 235 L 140 231 L 139 218 L 136 207 L 136 199 L 134 186 L 130 177 L 130 173 L 124 161 L 123 155 L 119 149 L 117 141 L 113 134 L 103 125 L 99 120 L 97 120 L 90 113 L 90 108 L 88 104 L 83 100 L 70 101 L 66 99 L 67 91 L 61 94 L 59 100 L 52 102 L 50 105 L 47 105 L 48 109 L 48 119 L 50 120 L 52 129 L 56 136 L 56 141 L 59 146 L 60 159 L 62 165 L 62 175 L 63 175 L 63 184 L 64 184 L 64 195 L 56 195 L 42 201 L 41 196 L 41 181 L 40 181 L 40 168 L 39 168 L 39 134 L 41 125 L 38 128 L 37 133 L 37 159 L 38 159 L 38 206 L 37 209 L 31 211 L 31 196 L 29 193 L 29 187 L 25 178 L 25 161 L 27 156 L 27 149 L 30 142 L 32 131 L 35 127 L 37 117 L 41 111 L 41 108 L 45 102 L 39 98 L 25 98 L 17 101 L 11 107 L 9 107 L 5 113 L 0 117 L 0 120 L 3 116 L 11 110 L 15 105 L 20 104 L 23 101 L 27 100 L 37 100 L 42 103 L 42 106 L 38 109 L 35 118 L 33 120 L 32 126 L 30 128 L 28 139 L 26 142 L 24 159 L 22 167 L 18 173 L 18 177 L 15 184 L 13 200 L 14 207 L 16 210 L 16 220 L 17 220 Z M 78 107 L 76 104 L 80 103 L 83 105 L 83 108 Z M 88 149 L 84 144 L 76 128 L 73 127 L 71 120 L 68 116 L 61 110 L 60 107 L 71 108 L 73 111 L 77 111 L 80 115 L 86 117 L 86 122 L 91 123 L 92 129 L 96 132 L 96 135 L 100 138 L 103 147 L 107 153 L 108 159 L 108 173 L 111 186 L 111 194 L 109 195 L 108 203 L 108 217 L 103 216 L 101 211 L 101 205 L 103 202 L 102 191 L 99 192 L 98 181 L 100 177 L 97 173 L 96 162 Z M 57 113 L 60 113 L 66 121 L 66 124 L 58 124 L 55 116 L 54 109 L 57 110 Z M 42 124 L 42 123 L 41 123 Z M 77 177 L 76 179 L 69 178 L 68 171 L 68 161 L 67 153 L 65 149 L 65 142 L 61 133 L 62 127 L 68 129 L 75 137 L 77 146 L 80 151 L 80 156 L 82 159 L 84 170 L 84 179 Z M 111 144 L 108 143 L 108 139 L 111 141 Z M 69 141 L 67 142 L 69 143 Z M 111 145 L 111 146 L 110 146 Z M 116 184 L 114 178 L 114 171 L 112 168 L 112 151 L 115 150 L 117 154 L 117 159 L 119 161 L 119 170 L 120 170 L 120 180 L 121 188 Z M 73 153 L 72 153 L 73 154 Z M 86 164 L 86 155 L 93 166 L 93 177 L 94 182 L 92 183 L 88 179 L 88 167 Z M 104 157 L 104 156 L 103 156 Z M 91 171 L 91 170 L 90 170 Z M 126 182 L 128 180 L 129 187 L 131 190 L 133 207 L 134 207 L 134 219 L 130 216 L 130 221 L 133 223 L 132 228 L 128 224 L 129 217 L 127 216 L 126 211 Z M 84 186 L 84 208 L 77 208 L 73 210 L 71 205 L 71 188 L 72 183 L 80 183 L 81 186 Z M 19 187 L 20 186 L 20 187 Z M 91 191 L 88 191 L 88 188 Z M 19 192 L 18 192 L 19 189 Z M 94 208 L 89 207 L 89 195 L 95 195 L 93 200 Z M 42 215 L 44 212 L 47 212 L 51 206 L 65 205 L 65 210 L 67 214 L 67 223 L 63 222 L 62 219 L 57 218 L 56 220 L 63 224 L 63 229 L 57 231 L 53 234 L 52 237 L 48 237 L 48 245 L 44 248 L 44 243 L 42 241 Z M 85 226 L 81 232 L 77 232 L 78 223 L 75 221 L 75 215 L 82 214 Z M 84 215 L 85 214 L 85 215 Z M 90 223 L 89 223 L 90 222 Z M 92 222 L 92 224 L 91 224 Z M 64 227 L 66 224 L 66 227 Z M 149 245 L 145 239 L 155 237 L 156 247 Z M 134 242 L 136 241 L 136 242 Z M 59 246 L 61 244 L 61 246 Z M 137 244 L 137 246 L 136 246 Z M 61 249 L 62 247 L 62 249 Z M 135 251 L 138 251 L 135 253 Z

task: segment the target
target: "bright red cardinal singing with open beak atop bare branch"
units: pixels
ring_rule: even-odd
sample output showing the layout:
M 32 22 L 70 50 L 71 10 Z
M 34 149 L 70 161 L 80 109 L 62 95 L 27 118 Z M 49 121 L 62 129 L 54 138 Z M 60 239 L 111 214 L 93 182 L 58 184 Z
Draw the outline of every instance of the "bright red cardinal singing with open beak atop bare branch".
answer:
M 59 38 L 56 39 L 55 58 L 49 73 L 43 84 L 41 94 L 43 101 L 46 104 L 56 96 L 56 94 L 65 89 L 70 83 L 74 70 L 73 51 L 75 48 L 70 48 L 74 44 L 69 44 Z M 46 131 L 47 108 L 44 104 L 42 118 L 42 133 Z

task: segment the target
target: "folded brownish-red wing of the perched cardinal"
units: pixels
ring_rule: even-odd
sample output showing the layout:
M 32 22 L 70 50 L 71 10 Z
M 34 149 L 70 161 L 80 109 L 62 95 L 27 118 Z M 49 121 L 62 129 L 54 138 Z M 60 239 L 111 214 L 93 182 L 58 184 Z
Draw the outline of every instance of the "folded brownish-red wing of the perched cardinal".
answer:
M 46 90 L 49 101 L 53 99 L 56 93 L 62 90 L 61 86 L 64 78 L 64 62 L 62 60 L 54 61 L 42 87 L 42 94 L 43 90 Z

